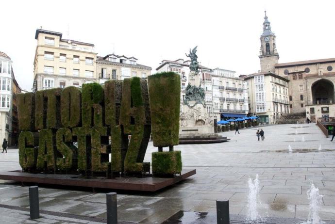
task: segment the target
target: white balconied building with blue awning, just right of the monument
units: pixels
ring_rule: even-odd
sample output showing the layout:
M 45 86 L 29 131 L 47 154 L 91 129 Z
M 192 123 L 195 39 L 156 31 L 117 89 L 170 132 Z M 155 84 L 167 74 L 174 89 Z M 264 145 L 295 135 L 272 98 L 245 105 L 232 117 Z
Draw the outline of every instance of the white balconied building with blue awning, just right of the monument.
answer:
M 236 72 L 221 68 L 212 71 L 213 112 L 222 119 L 248 114 L 247 83 Z

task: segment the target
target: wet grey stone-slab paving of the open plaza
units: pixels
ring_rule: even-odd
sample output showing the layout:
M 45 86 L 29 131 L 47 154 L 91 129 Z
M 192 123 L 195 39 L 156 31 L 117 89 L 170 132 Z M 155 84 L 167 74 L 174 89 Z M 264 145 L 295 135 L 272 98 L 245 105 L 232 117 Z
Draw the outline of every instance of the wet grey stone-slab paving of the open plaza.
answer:
M 315 124 L 261 128 L 265 141 L 257 141 L 257 128 L 250 128 L 241 129 L 239 135 L 234 131 L 221 133 L 231 139 L 226 143 L 175 146 L 175 150 L 182 151 L 183 166 L 197 169 L 197 174 L 155 193 L 118 192 L 118 220 L 160 224 L 184 219 L 178 223 L 213 223 L 216 200 L 229 200 L 232 216 L 245 216 L 247 181 L 258 174 L 261 216 L 284 217 L 286 223 L 294 218 L 306 220 L 309 212 L 306 192 L 312 180 L 320 194 L 324 194 L 320 218 L 335 221 L 335 143 L 325 138 Z M 145 161 L 151 161 L 154 151 L 157 149 L 150 143 Z M 0 168 L 2 171 L 20 169 L 17 149 L 0 155 Z M 28 187 L 6 182 L 0 180 L 1 224 L 105 222 L 105 192 L 42 186 L 40 209 L 56 213 L 45 214 L 46 220 L 33 222 L 26 211 L 17 210 L 29 206 Z M 76 218 L 68 218 L 70 221 L 56 218 L 62 214 L 76 215 Z

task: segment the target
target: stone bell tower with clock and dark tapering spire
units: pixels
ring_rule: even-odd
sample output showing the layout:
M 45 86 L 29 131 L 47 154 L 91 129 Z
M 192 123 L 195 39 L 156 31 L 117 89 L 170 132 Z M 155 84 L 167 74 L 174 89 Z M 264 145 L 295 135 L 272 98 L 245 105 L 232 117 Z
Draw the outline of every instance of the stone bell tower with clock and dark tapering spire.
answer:
M 263 33 L 261 35 L 261 48 L 259 59 L 261 61 L 261 72 L 275 72 L 274 65 L 278 63 L 279 54 L 276 48 L 276 35 L 271 31 L 267 11 L 265 11 Z

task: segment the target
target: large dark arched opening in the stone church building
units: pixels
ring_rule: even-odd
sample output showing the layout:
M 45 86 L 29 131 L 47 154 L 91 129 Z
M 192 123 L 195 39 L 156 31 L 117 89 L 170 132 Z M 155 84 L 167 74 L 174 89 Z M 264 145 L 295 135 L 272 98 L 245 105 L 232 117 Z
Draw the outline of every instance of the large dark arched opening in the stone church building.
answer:
M 334 84 L 330 80 L 321 79 L 312 85 L 313 104 L 329 104 L 334 102 Z

